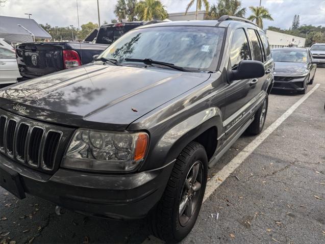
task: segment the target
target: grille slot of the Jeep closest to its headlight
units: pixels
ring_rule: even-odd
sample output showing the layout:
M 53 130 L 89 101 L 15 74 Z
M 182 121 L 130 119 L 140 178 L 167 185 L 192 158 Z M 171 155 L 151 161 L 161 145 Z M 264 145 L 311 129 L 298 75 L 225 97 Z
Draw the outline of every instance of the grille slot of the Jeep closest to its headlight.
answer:
M 48 131 L 43 149 L 42 168 L 44 170 L 52 170 L 55 156 L 61 139 L 61 132 Z

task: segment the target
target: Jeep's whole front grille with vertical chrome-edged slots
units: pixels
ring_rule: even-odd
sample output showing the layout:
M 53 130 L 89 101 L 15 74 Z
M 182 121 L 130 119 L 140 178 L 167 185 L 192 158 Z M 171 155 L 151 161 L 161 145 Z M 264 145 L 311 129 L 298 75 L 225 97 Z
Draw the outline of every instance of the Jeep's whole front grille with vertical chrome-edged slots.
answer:
M 58 169 L 72 128 L 47 124 L 0 110 L 0 152 L 28 167 Z

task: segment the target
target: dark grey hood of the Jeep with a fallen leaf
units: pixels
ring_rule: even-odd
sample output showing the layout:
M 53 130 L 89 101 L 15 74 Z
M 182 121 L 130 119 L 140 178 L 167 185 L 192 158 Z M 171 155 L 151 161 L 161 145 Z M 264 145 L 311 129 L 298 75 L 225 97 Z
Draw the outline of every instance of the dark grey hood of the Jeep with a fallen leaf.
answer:
M 69 126 L 124 130 L 209 77 L 153 67 L 89 64 L 0 90 L 0 107 Z

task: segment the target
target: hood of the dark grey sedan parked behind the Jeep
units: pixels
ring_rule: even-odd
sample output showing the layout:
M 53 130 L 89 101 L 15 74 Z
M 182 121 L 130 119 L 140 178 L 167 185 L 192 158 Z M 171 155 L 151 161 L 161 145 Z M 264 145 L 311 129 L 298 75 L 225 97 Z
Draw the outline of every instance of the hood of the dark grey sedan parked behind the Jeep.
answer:
M 294 62 L 274 62 L 274 75 L 301 75 L 307 72 L 307 64 Z

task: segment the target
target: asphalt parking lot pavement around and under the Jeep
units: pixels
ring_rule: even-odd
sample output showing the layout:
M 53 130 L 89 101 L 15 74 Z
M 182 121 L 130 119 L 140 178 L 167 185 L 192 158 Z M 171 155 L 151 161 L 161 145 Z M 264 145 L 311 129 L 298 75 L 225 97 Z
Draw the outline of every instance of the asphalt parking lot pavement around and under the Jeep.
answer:
M 325 68 L 317 68 L 306 95 L 269 96 L 266 132 L 243 135 L 210 169 L 211 195 L 184 243 L 325 241 L 324 77 Z M 0 200 L 4 242 L 160 242 L 144 220 L 116 222 L 68 210 L 57 215 L 54 205 L 32 196 L 17 201 L 3 188 Z

